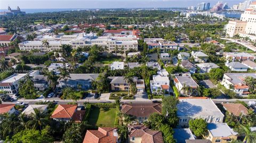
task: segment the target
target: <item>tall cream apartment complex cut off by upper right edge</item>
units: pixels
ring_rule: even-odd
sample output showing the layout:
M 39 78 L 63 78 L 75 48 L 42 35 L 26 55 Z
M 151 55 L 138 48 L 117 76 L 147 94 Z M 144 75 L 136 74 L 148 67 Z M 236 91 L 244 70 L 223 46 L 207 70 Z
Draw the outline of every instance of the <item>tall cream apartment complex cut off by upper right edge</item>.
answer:
M 237 34 L 242 37 L 256 39 L 256 2 L 251 2 L 249 9 L 241 14 L 240 21 L 229 21 L 227 24 L 227 36 L 233 37 Z

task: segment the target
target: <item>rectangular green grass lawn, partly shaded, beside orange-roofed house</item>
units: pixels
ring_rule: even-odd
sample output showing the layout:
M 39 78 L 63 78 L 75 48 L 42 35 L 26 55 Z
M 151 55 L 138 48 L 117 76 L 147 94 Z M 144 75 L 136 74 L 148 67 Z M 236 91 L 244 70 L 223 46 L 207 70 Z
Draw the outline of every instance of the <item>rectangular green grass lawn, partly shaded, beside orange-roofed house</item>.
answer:
M 89 124 L 99 127 L 114 127 L 116 108 L 92 108 Z

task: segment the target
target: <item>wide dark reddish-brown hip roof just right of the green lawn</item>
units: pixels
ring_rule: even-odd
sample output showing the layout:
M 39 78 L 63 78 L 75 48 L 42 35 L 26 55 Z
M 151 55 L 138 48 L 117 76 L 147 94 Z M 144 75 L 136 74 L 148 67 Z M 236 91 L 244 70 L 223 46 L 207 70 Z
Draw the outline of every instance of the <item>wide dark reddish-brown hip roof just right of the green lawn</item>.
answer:
M 123 104 L 122 112 L 137 117 L 149 117 L 153 113 L 161 114 L 162 105 L 160 103 Z

